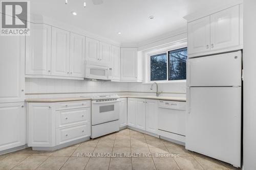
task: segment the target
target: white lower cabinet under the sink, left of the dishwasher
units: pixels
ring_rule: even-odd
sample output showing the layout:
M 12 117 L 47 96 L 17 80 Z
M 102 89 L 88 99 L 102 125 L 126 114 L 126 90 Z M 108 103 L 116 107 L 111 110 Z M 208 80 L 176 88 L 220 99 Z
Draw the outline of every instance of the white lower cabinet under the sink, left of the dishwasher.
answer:
M 128 98 L 128 126 L 157 134 L 157 108 L 157 100 Z

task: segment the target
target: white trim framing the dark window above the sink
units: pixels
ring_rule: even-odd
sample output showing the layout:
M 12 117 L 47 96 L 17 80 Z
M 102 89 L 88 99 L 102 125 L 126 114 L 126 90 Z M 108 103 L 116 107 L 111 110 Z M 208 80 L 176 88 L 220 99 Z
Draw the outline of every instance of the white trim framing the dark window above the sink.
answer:
M 166 53 L 166 60 L 168 60 L 168 51 L 177 50 L 180 48 L 187 47 L 187 40 L 180 40 L 177 42 L 170 43 L 169 45 L 162 45 L 156 48 L 152 48 L 151 51 L 145 52 L 145 75 L 144 75 L 144 84 L 151 84 L 151 83 L 181 83 L 186 82 L 186 80 L 168 80 L 168 66 L 167 66 L 167 77 L 166 80 L 159 80 L 159 81 L 151 81 L 151 56 Z M 168 61 L 167 61 L 168 63 Z

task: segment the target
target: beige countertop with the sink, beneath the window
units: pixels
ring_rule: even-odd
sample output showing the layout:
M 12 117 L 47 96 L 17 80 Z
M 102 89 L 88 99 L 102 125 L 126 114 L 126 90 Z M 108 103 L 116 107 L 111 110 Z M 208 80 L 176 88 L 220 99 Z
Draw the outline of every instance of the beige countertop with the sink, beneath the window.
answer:
M 170 97 L 170 96 L 154 96 L 154 95 L 119 95 L 120 98 L 139 98 L 139 99 L 153 99 L 164 101 L 179 101 L 186 102 L 186 98 Z

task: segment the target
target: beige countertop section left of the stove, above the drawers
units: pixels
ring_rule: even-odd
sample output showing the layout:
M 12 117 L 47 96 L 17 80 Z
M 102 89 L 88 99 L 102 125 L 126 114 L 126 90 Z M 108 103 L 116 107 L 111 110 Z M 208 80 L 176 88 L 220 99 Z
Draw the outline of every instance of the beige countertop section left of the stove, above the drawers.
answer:
M 54 103 L 54 102 L 72 102 L 72 101 L 86 101 L 91 100 L 91 98 L 39 98 L 39 99 L 26 99 L 25 102 L 34 102 L 34 103 Z

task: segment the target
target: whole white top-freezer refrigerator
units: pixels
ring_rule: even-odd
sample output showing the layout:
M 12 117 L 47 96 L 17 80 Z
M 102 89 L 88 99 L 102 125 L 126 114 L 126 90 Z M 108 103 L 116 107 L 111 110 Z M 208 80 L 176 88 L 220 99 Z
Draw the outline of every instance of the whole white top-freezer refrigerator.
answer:
M 187 60 L 187 150 L 241 166 L 241 51 Z

